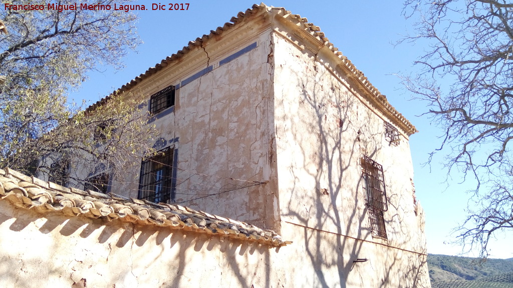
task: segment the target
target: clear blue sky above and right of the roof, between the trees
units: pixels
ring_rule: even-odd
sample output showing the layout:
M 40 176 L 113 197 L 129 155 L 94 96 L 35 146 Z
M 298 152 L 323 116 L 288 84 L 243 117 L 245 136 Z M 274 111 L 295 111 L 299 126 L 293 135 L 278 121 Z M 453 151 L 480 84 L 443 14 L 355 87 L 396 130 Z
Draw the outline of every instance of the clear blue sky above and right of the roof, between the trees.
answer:
M 441 183 L 445 179 L 445 171 L 436 162 L 430 168 L 422 166 L 427 160 L 427 154 L 437 148 L 440 142 L 438 136 L 443 132 L 431 125 L 429 119 L 416 116 L 426 110 L 425 103 L 409 100 L 411 95 L 404 91 L 399 78 L 394 75 L 414 71 L 413 60 L 424 51 L 419 43 L 393 45 L 411 29 L 411 23 L 401 16 L 401 2 L 279 0 L 265 4 L 285 7 L 320 26 L 330 42 L 417 127 L 420 132 L 410 137 L 410 147 L 417 199 L 426 212 L 428 253 L 459 255 L 462 248 L 450 244 L 455 240 L 450 233 L 452 228 L 465 219 L 468 195 L 464 191 L 467 187 L 458 184 L 461 179 L 456 177 L 447 188 L 446 184 Z M 245 11 L 255 4 L 247 0 L 191 0 L 188 3 L 187 11 L 149 10 L 139 13 L 139 34 L 144 44 L 139 46 L 137 53 L 131 53 L 123 59 L 126 67 L 120 71 L 99 67 L 100 72 L 89 73 L 89 79 L 71 97 L 75 100 L 96 101 L 108 95 L 149 67 L 160 63 L 166 56 L 182 49 L 190 40 L 223 26 L 239 11 Z M 143 2 L 139 1 L 138 4 Z M 508 234 L 510 240 L 512 235 Z M 510 241 L 506 240 L 505 234 L 499 236 L 489 246 L 491 258 L 513 257 Z

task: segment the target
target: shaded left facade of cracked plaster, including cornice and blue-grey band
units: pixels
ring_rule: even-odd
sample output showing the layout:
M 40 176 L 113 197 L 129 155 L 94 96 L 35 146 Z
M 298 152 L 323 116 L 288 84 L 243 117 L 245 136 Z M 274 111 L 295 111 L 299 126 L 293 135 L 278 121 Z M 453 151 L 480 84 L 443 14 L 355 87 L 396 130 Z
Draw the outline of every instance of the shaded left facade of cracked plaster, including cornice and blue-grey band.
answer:
M 160 132 L 157 149 L 174 147 L 176 203 L 279 230 L 277 186 L 270 177 L 271 29 L 266 17 L 248 19 L 247 25 L 224 32 L 219 42 L 196 40 L 184 57 L 129 93 L 147 102 L 150 95 L 176 86 L 174 107 L 149 123 Z M 147 110 L 147 105 L 142 108 Z M 114 180 L 110 192 L 137 198 L 139 173 L 136 168 Z

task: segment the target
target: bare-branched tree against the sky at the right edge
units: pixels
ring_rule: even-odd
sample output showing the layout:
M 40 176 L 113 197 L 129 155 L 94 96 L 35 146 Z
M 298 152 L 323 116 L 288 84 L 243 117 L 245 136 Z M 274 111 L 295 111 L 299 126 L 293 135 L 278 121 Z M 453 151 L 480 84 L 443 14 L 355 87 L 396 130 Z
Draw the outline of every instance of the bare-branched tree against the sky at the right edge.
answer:
M 403 12 L 417 19 L 404 40 L 429 47 L 404 83 L 445 131 L 433 153 L 444 153 L 449 173 L 476 180 L 476 203 L 457 231 L 486 257 L 490 237 L 513 228 L 513 3 L 407 0 Z

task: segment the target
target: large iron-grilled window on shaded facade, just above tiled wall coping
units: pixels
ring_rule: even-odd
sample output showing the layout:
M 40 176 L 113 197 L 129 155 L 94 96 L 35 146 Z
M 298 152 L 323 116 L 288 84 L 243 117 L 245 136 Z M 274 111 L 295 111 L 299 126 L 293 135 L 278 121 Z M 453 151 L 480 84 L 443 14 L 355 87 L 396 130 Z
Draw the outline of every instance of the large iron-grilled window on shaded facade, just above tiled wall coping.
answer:
M 149 159 L 141 163 L 141 177 L 139 180 L 139 199 L 151 202 L 169 203 L 174 201 L 172 193 L 174 149 L 164 148 Z

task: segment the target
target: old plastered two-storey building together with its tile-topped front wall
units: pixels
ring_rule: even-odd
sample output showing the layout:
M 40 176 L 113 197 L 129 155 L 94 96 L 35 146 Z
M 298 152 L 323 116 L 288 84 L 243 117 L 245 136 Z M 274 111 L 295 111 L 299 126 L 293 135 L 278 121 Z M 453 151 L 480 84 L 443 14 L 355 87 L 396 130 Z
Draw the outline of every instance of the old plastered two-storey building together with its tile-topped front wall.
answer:
M 135 90 L 161 153 L 124 181 L 84 175 L 119 196 L 0 173 L 0 259 L 18 271 L 0 282 L 430 287 L 416 129 L 306 18 L 254 5 L 119 92 Z M 56 209 L 59 193 L 80 201 Z

